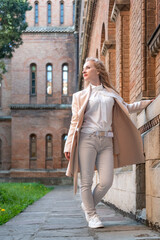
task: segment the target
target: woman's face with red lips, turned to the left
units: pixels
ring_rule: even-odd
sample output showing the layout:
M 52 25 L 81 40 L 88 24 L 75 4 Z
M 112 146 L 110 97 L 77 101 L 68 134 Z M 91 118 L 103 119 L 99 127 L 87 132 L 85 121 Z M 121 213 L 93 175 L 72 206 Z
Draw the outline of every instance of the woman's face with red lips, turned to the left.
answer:
M 99 73 L 93 61 L 88 61 L 84 64 L 82 73 L 85 81 L 89 81 L 93 84 L 100 84 Z

